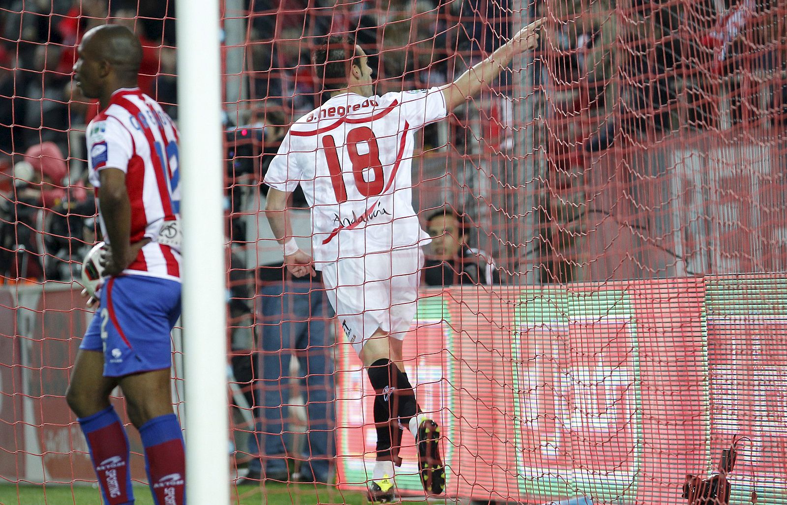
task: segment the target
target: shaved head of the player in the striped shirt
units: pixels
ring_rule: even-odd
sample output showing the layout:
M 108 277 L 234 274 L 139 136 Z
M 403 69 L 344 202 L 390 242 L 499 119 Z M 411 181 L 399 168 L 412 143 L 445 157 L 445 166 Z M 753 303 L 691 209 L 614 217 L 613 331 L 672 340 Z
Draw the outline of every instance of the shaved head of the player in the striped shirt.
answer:
M 105 98 L 121 87 L 136 87 L 142 44 L 120 24 L 88 31 L 77 49 L 74 80 L 87 98 Z

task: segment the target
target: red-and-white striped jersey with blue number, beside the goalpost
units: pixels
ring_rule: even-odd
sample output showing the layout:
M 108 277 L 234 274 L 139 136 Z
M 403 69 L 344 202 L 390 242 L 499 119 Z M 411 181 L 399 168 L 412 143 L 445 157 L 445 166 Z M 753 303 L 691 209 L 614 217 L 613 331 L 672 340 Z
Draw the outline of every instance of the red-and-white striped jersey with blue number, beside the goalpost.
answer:
M 90 181 L 99 171 L 126 173 L 131 243 L 150 238 L 124 274 L 180 279 L 178 131 L 153 98 L 139 88 L 117 90 L 87 126 Z M 107 238 L 103 216 L 99 215 Z

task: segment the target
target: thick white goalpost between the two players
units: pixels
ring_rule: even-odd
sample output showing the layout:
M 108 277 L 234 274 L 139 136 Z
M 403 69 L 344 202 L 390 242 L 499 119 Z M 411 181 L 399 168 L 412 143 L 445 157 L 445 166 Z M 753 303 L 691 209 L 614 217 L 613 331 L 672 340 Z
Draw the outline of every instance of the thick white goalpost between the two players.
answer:
M 218 0 L 178 0 L 183 341 L 190 503 L 229 503 Z

